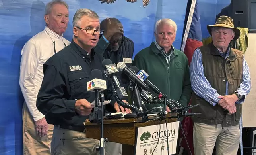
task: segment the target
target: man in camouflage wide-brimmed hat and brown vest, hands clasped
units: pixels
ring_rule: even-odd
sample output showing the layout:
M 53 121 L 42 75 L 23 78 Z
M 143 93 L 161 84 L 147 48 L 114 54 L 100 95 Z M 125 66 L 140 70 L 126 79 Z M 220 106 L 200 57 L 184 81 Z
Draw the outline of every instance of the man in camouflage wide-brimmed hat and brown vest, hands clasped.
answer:
M 207 25 L 212 42 L 194 51 L 190 64 L 195 155 L 236 155 L 239 147 L 241 104 L 251 90 L 248 65 L 242 51 L 229 43 L 240 30 L 233 19 L 221 16 L 215 25 Z

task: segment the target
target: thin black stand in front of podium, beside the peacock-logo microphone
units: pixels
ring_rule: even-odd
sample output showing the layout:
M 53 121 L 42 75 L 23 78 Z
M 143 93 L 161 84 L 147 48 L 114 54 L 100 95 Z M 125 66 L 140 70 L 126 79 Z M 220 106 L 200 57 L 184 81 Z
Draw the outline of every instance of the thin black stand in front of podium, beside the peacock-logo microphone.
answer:
M 104 94 L 101 94 L 100 96 L 100 101 L 101 101 L 101 140 L 99 142 L 100 146 L 99 146 L 99 154 L 100 155 L 105 155 L 105 142 L 108 142 L 108 138 L 104 138 L 103 137 L 103 118 L 104 118 Z M 96 102 L 95 102 L 96 103 Z

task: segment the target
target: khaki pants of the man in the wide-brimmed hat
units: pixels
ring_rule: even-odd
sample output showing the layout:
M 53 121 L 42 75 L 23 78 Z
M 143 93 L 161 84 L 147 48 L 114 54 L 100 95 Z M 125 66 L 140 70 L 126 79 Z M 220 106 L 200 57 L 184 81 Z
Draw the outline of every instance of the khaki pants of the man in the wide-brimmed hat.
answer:
M 240 142 L 239 126 L 223 127 L 194 123 L 193 141 L 195 155 L 212 155 L 216 142 L 216 155 L 236 155 Z

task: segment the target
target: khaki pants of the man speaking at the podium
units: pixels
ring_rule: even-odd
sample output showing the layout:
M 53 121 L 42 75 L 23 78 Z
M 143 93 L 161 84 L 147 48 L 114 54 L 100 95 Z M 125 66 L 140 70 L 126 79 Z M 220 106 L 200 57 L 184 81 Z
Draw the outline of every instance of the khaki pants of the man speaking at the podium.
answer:
M 85 133 L 54 126 L 52 155 L 99 155 L 99 140 L 86 138 Z

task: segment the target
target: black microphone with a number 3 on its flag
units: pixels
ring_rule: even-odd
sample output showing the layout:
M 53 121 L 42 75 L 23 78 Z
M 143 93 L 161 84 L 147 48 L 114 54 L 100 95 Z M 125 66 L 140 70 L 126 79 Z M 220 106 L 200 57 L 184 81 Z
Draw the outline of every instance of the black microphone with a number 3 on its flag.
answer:
M 128 98 L 128 94 L 126 93 L 126 90 L 124 87 L 121 87 L 119 80 L 116 77 L 116 73 L 119 72 L 116 68 L 116 64 L 113 64 L 110 59 L 104 59 L 102 61 L 102 65 L 105 68 L 104 73 L 105 76 L 108 78 L 111 78 L 113 80 L 114 86 L 116 88 L 116 94 L 120 100 L 124 100 Z

